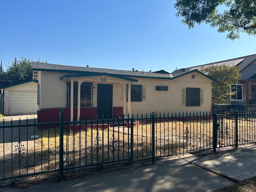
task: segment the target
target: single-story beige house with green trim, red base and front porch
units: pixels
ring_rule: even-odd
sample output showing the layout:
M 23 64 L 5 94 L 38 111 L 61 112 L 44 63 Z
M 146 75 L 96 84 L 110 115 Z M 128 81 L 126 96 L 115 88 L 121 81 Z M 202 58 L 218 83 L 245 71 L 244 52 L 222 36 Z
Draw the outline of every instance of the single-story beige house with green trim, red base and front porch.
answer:
M 198 70 L 172 76 L 160 70 L 112 70 L 33 62 L 34 80 L 38 80 L 38 121 L 80 114 L 106 119 L 141 116 L 156 112 L 200 112 L 211 110 L 211 84 L 214 80 Z M 175 114 L 174 114 L 175 115 Z

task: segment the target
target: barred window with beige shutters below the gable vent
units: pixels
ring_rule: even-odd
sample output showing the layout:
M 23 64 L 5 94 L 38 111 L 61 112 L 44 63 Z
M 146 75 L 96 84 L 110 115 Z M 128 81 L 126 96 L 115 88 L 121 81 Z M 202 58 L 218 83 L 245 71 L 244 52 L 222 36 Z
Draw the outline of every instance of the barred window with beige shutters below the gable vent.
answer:
M 203 102 L 203 90 L 200 88 L 182 88 L 182 105 L 200 106 Z

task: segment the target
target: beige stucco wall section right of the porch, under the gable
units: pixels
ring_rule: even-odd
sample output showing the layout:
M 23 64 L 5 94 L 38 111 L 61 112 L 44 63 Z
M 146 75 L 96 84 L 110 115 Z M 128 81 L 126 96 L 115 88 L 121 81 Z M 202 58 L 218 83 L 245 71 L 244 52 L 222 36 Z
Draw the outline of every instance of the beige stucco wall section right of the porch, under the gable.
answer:
M 138 85 L 146 87 L 146 100 L 131 102 L 131 113 L 141 114 L 150 112 L 200 112 L 211 110 L 212 81 L 199 73 L 187 74 L 173 80 L 138 78 Z M 156 86 L 168 86 L 168 91 L 156 91 Z M 201 106 L 182 105 L 182 88 L 201 88 L 204 90 L 204 104 Z

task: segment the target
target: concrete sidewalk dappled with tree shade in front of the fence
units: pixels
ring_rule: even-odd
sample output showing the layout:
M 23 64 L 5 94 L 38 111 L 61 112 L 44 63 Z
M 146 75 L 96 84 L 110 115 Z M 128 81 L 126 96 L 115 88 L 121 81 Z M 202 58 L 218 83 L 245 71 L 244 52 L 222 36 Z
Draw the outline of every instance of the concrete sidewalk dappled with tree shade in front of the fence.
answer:
M 256 176 L 256 146 L 193 155 L 1 192 L 206 192 Z

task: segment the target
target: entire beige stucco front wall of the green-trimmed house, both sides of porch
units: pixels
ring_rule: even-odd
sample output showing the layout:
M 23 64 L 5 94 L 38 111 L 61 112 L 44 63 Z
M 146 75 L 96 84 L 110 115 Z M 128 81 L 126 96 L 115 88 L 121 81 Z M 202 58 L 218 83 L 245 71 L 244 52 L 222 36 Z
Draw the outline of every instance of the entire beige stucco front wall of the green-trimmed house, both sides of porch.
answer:
M 146 88 L 146 99 L 142 102 L 130 102 L 131 113 L 139 114 L 150 112 L 193 112 L 211 110 L 211 84 L 212 81 L 205 76 L 195 72 L 195 78 L 192 74 L 187 74 L 172 80 L 156 78 L 136 78 L 138 82 L 132 84 L 142 85 Z M 41 108 L 62 108 L 66 107 L 66 82 L 70 79 L 60 80 L 60 77 L 66 73 L 41 72 L 40 80 L 40 106 Z M 106 78 L 106 82 L 101 82 L 100 78 Z M 74 78 L 77 81 L 78 78 Z M 97 107 L 97 84 L 113 84 L 113 106 L 123 106 L 126 104 L 126 114 L 128 114 L 128 102 L 126 102 L 126 93 L 123 95 L 123 83 L 128 81 L 112 78 L 108 76 L 80 78 L 84 82 L 93 83 L 93 107 Z M 168 86 L 168 91 L 156 91 L 156 86 Z M 204 104 L 201 106 L 187 107 L 182 105 L 182 88 L 192 87 L 204 90 Z M 124 100 L 125 101 L 124 101 Z

